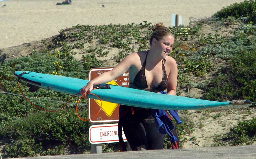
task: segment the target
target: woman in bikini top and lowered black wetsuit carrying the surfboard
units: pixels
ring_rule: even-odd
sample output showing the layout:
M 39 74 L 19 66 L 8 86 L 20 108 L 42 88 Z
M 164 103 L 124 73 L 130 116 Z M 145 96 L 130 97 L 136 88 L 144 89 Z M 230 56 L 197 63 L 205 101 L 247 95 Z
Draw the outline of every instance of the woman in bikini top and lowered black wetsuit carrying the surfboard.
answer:
M 88 82 L 80 93 L 90 92 L 94 85 L 107 83 L 129 69 L 130 88 L 156 93 L 167 89 L 167 94 L 176 95 L 177 64 L 172 57 L 168 56 L 172 51 L 174 36 L 162 23 L 154 26 L 149 40 L 150 50 L 127 55 L 111 71 L 102 73 Z M 164 135 L 157 131 L 150 109 L 120 105 L 119 126 L 119 134 L 123 126 L 132 150 L 163 149 Z M 120 150 L 126 150 L 126 148 L 123 149 L 121 139 L 119 135 Z

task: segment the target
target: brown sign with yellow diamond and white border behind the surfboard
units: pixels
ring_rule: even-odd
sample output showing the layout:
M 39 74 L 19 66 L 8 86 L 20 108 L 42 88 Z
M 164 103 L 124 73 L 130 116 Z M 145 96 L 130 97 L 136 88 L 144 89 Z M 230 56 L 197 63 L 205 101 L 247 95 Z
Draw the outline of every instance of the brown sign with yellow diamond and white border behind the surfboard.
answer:
M 92 68 L 89 72 L 89 80 L 101 75 L 103 72 L 112 70 L 113 67 L 107 68 Z M 129 73 L 128 70 L 117 77 L 116 79 L 108 82 L 108 84 L 118 85 L 123 87 L 129 86 Z M 95 99 L 89 99 L 89 118 L 91 123 L 103 123 L 103 122 L 118 122 L 119 104 L 101 101 L 101 111 L 94 117 L 100 109 L 100 101 Z M 94 117 L 94 118 L 92 118 Z M 92 119 L 91 119 L 92 118 Z

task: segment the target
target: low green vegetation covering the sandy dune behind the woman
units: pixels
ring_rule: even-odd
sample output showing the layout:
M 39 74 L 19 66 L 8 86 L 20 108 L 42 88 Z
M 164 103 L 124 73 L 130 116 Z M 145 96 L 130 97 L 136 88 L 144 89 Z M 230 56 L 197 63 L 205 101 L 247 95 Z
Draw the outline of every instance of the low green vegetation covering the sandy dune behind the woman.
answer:
M 255 101 L 255 4 L 252 0 L 233 4 L 211 18 L 193 22 L 189 26 L 169 28 L 176 37 L 169 55 L 178 64 L 178 94 L 182 89 L 199 88 L 205 92 L 202 99 Z M 210 27 L 213 31 L 203 31 L 204 27 Z M 60 30 L 52 41 L 42 41 L 44 51 L 34 50 L 27 57 L 3 61 L 0 64 L 0 88 L 3 90 L 0 94 L 2 156 L 80 154 L 90 150 L 90 123 L 77 118 L 77 99 L 71 99 L 67 107 L 57 113 L 38 110 L 23 97 L 13 95 L 20 94 L 13 77 L 14 71 L 27 70 L 87 79 L 91 66 L 106 67 L 99 58 L 107 56 L 111 48 L 119 50 L 114 57 L 116 62 L 131 52 L 147 50 L 151 29 L 152 24 L 147 21 L 127 25 L 76 25 Z M 225 31 L 221 32 L 221 29 Z M 82 59 L 75 59 L 76 54 L 82 54 Z M 44 89 L 30 93 L 25 89 L 25 83 L 21 82 L 21 86 L 33 103 L 49 110 L 57 110 L 62 105 L 60 102 L 70 98 L 69 95 Z M 86 118 L 87 101 L 82 100 L 80 104 L 80 115 Z M 176 125 L 180 147 L 186 141 L 199 144 L 196 137 L 184 138 L 195 129 L 187 113 L 180 112 L 183 124 Z M 213 118 L 218 119 L 222 115 L 216 112 Z M 200 127 L 204 127 L 204 124 L 201 123 Z M 255 130 L 255 118 L 240 121 L 228 134 L 216 135 L 212 146 L 252 144 Z M 168 137 L 164 146 L 171 147 Z M 117 143 L 103 145 L 104 152 L 118 149 Z

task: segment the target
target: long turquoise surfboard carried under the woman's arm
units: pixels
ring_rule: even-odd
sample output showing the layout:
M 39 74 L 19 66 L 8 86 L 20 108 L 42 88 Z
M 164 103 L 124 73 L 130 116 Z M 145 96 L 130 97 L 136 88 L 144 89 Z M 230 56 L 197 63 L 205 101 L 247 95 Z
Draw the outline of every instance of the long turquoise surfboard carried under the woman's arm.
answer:
M 30 86 L 31 92 L 36 91 L 40 87 L 74 95 L 79 93 L 80 89 L 89 82 L 88 80 L 79 78 L 42 74 L 30 71 L 15 71 L 14 75 L 20 80 L 25 81 L 27 86 Z M 249 100 L 233 100 L 225 102 L 209 101 L 181 96 L 164 95 L 115 85 L 110 85 L 110 89 L 94 89 L 90 93 L 99 96 L 103 101 L 141 108 L 165 110 L 238 109 L 248 107 L 252 104 Z M 79 94 L 77 96 L 81 95 Z M 87 97 L 98 99 L 91 94 L 88 94 Z

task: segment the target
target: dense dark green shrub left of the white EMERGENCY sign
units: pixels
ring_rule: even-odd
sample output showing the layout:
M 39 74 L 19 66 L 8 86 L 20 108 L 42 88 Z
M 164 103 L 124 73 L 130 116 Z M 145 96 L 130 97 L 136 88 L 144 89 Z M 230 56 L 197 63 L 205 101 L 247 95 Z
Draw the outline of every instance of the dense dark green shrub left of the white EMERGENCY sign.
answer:
M 12 141 L 7 142 L 3 149 L 5 157 L 29 157 L 38 153 L 60 155 L 65 151 L 72 153 L 88 151 L 90 124 L 79 120 L 74 110 L 67 108 L 58 113 L 39 111 L 6 122 L 0 135 Z M 87 110 L 80 114 L 87 116 Z M 62 148 L 56 149 L 56 146 Z M 72 148 L 67 150 L 64 146 Z M 54 151 L 48 152 L 50 149 Z M 55 151 L 56 153 L 53 153 Z

